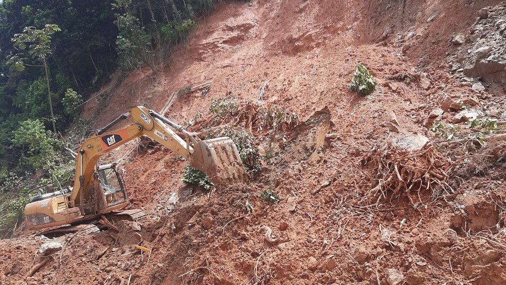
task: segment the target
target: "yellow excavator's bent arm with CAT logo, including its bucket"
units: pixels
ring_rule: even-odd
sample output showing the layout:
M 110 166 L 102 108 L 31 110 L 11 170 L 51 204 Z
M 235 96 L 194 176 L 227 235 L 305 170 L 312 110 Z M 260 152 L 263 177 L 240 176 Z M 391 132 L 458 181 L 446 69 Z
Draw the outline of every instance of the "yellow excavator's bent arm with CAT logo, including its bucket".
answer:
M 128 117 L 131 117 L 134 122 L 122 129 L 105 133 L 119 120 Z M 179 137 L 169 126 L 183 132 L 187 136 L 186 140 Z M 246 182 L 248 179 L 237 148 L 230 138 L 201 140 L 194 133 L 187 132 L 183 127 L 153 110 L 136 106 L 82 144 L 77 156 L 76 177 L 69 201 L 70 206 L 79 205 L 84 197 L 88 197 L 87 189 L 93 180 L 95 165 L 103 154 L 142 135 L 150 137 L 189 159 L 192 167 L 209 175 L 215 184 Z

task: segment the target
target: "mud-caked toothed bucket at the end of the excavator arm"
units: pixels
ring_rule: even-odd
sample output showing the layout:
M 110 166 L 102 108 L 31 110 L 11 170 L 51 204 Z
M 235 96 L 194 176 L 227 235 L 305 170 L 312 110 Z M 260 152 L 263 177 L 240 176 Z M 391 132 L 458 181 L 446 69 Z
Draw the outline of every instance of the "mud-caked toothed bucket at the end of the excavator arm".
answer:
M 237 147 L 229 137 L 202 140 L 193 149 L 190 165 L 209 175 L 215 185 L 248 182 Z

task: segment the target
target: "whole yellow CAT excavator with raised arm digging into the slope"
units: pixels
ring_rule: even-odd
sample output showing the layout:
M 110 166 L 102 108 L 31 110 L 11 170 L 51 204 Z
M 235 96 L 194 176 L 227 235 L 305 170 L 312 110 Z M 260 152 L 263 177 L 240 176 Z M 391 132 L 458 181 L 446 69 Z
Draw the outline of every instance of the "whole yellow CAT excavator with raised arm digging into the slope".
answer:
M 133 120 L 128 126 L 107 132 L 128 117 Z M 183 133 L 185 139 L 170 127 Z M 143 135 L 185 157 L 215 185 L 248 181 L 237 147 L 229 137 L 202 140 L 197 133 L 186 131 L 149 105 L 134 106 L 84 141 L 77 152 L 73 187 L 39 195 L 26 205 L 28 228 L 78 223 L 127 206 L 125 186 L 116 165 L 97 163 L 103 154 Z

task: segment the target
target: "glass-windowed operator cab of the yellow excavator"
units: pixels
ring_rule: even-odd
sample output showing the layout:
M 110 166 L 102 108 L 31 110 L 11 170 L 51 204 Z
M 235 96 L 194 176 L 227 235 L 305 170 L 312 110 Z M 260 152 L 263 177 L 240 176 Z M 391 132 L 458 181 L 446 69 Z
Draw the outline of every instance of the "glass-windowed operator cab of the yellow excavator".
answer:
M 115 166 L 115 164 L 106 164 L 99 166 L 97 169 L 105 196 L 106 207 L 126 202 L 125 186 Z

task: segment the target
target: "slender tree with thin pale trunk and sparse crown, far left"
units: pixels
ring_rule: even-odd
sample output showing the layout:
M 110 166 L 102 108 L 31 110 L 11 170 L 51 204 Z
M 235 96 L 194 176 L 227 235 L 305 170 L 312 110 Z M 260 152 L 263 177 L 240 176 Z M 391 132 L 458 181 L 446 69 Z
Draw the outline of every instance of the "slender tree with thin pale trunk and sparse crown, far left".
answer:
M 32 60 L 37 60 L 42 63 L 40 64 L 29 64 L 26 63 L 28 60 L 24 57 L 24 54 L 13 55 L 9 62 L 20 71 L 23 71 L 26 66 L 39 66 L 44 67 L 47 82 L 47 96 L 49 98 L 49 109 L 51 111 L 51 120 L 53 126 L 53 132 L 56 133 L 56 119 L 53 113 L 52 102 L 51 102 L 51 89 L 49 86 L 49 74 L 47 68 L 46 58 L 52 54 L 51 47 L 51 35 L 61 31 L 60 27 L 55 24 L 47 24 L 44 29 L 36 29 L 33 26 L 29 26 L 23 29 L 23 33 L 16 33 L 11 41 L 14 43 L 14 48 L 18 50 L 26 50 L 28 45 L 27 55 Z

